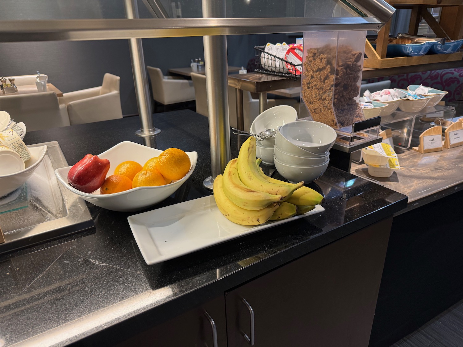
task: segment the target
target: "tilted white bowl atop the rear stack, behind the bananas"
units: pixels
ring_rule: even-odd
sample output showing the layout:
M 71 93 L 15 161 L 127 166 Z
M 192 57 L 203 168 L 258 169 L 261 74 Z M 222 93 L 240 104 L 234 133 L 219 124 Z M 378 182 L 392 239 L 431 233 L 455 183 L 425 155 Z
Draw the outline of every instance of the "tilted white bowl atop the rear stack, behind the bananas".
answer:
M 297 119 L 297 112 L 293 106 L 278 105 L 265 110 L 254 119 L 250 127 L 250 133 L 260 134 L 263 130 L 277 129 L 280 125 L 294 122 Z M 273 147 L 275 138 L 268 138 L 258 141 L 261 147 Z

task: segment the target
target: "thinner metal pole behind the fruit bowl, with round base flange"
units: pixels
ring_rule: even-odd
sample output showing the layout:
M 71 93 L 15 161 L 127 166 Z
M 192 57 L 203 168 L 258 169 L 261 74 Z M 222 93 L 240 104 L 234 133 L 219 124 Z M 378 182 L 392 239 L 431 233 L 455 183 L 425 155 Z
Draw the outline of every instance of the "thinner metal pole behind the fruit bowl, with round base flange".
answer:
M 137 0 L 125 0 L 125 14 L 128 19 L 138 18 Z M 148 77 L 144 67 L 143 46 L 141 38 L 130 38 L 130 58 L 132 62 L 133 82 L 137 96 L 138 114 L 142 127 L 135 132 L 138 136 L 154 136 L 161 132 L 153 124 L 153 112 L 151 111 L 151 96 L 148 88 Z

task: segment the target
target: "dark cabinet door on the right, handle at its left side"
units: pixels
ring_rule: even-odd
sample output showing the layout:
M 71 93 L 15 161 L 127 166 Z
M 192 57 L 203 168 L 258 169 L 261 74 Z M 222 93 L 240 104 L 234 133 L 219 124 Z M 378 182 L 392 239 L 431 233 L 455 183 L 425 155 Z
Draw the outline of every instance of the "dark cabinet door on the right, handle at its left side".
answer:
M 228 347 L 367 347 L 392 217 L 225 295 Z M 254 336 L 251 312 L 254 311 Z

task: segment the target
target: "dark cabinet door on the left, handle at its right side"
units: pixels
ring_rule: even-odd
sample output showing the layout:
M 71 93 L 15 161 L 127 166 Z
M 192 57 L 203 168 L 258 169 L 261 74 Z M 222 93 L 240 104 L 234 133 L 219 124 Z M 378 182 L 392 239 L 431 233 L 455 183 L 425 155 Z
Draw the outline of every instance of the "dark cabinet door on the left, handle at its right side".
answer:
M 213 326 L 206 312 L 215 324 L 217 346 L 226 347 L 223 296 L 133 336 L 117 347 L 214 347 Z

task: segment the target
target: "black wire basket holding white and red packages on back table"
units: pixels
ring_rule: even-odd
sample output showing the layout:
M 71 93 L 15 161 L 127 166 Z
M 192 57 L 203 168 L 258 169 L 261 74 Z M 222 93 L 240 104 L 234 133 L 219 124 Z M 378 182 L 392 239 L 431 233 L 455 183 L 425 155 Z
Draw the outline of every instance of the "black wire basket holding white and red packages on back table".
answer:
M 286 59 L 266 52 L 265 46 L 255 46 L 254 50 L 256 51 L 255 72 L 281 77 L 292 77 L 294 79 L 300 78 L 300 74 L 294 74 L 290 70 L 301 71 L 302 64 L 294 64 L 288 62 Z

